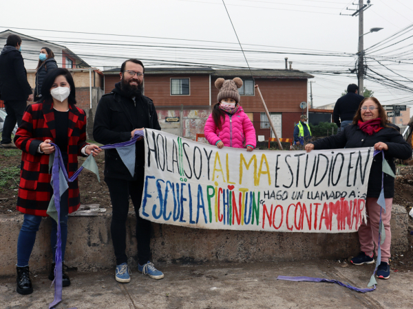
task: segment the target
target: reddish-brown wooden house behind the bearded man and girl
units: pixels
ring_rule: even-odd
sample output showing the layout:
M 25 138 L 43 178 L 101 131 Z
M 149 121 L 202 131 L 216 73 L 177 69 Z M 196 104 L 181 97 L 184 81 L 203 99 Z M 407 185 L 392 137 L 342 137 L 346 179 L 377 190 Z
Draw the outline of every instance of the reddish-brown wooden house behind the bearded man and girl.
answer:
M 120 81 L 120 68 L 103 71 L 104 91 L 109 93 Z M 251 76 L 252 73 L 252 76 Z M 240 105 L 250 117 L 258 135 L 271 137 L 271 129 L 260 96 L 258 84 L 277 135 L 293 138 L 294 125 L 303 111 L 299 104 L 307 101 L 307 80 L 314 76 L 293 69 L 212 69 L 209 67 L 147 68 L 145 95 L 153 100 L 162 130 L 195 139 L 203 133 L 204 124 L 217 103 L 218 78 L 242 78 Z

